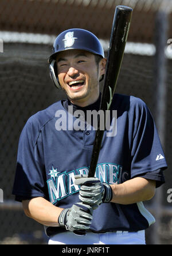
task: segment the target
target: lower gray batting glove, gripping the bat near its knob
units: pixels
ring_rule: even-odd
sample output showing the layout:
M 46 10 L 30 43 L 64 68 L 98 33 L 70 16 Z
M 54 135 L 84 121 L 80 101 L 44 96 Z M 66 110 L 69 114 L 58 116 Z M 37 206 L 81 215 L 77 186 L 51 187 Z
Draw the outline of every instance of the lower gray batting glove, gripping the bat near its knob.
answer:
M 91 225 L 92 213 L 93 209 L 90 205 L 79 202 L 71 208 L 62 210 L 58 223 L 69 231 L 87 230 Z

